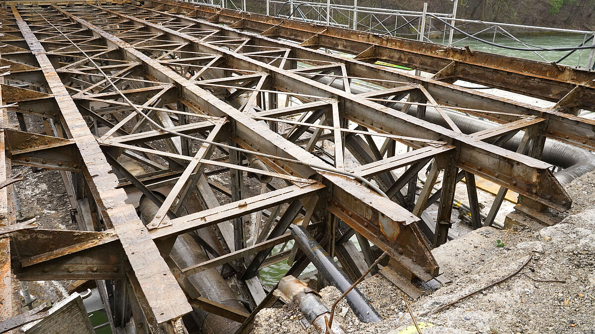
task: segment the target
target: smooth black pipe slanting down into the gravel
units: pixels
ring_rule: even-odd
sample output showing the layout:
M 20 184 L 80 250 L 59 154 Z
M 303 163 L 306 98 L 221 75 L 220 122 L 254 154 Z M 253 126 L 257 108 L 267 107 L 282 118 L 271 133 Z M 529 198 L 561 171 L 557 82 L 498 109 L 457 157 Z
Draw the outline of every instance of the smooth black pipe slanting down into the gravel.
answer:
M 318 273 L 322 273 L 324 278 L 329 283 L 336 286 L 341 292 L 347 291 L 352 283 L 347 278 L 347 275 L 337 267 L 333 259 L 328 255 L 327 251 L 322 248 L 320 244 L 312 235 L 306 231 L 302 226 L 292 226 L 292 235 L 295 244 L 306 254 L 308 259 L 312 261 L 314 266 L 318 269 Z M 382 318 L 380 314 L 369 304 L 368 300 L 362 295 L 358 288 L 354 288 L 347 294 L 347 304 L 352 308 L 353 313 L 362 322 L 380 322 Z

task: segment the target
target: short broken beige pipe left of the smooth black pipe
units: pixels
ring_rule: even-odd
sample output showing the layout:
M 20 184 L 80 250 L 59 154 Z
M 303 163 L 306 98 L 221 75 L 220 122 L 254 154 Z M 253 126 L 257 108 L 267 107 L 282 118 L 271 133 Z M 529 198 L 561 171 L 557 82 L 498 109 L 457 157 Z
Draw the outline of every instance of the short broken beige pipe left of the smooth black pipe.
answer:
M 318 297 L 316 291 L 305 285 L 302 281 L 294 276 L 285 276 L 279 281 L 277 286 L 288 301 L 293 301 L 299 304 L 303 316 L 310 324 L 313 324 L 318 333 L 327 333 L 325 318 L 330 318 L 330 310 Z M 333 322 L 330 329 L 331 334 L 343 334 L 345 330 L 339 322 Z

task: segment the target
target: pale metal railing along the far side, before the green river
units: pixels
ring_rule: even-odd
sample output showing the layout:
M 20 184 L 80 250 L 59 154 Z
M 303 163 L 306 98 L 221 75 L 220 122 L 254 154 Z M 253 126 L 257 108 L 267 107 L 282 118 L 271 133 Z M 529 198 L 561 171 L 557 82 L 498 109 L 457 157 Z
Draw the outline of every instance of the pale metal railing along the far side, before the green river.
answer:
M 191 2 L 246 11 L 232 0 L 193 0 Z M 393 10 L 334 4 L 326 1 L 265 0 L 262 14 L 290 18 L 309 23 L 325 24 L 369 33 L 386 34 L 446 46 L 465 46 L 471 49 L 544 62 L 562 63 L 583 68 L 595 68 L 595 31 L 527 26 L 457 18 L 458 1 L 453 1 L 452 13 Z M 517 36 L 515 36 L 515 34 Z M 541 36 L 540 36 L 541 34 Z M 547 34 L 547 36 L 545 36 Z M 556 34 L 558 40 L 556 39 Z M 519 37 L 519 36 L 523 37 Z M 564 38 L 559 38 L 563 35 Z M 547 46 L 537 46 L 546 42 Z M 573 43 L 574 45 L 568 45 Z

